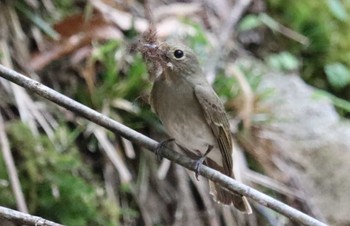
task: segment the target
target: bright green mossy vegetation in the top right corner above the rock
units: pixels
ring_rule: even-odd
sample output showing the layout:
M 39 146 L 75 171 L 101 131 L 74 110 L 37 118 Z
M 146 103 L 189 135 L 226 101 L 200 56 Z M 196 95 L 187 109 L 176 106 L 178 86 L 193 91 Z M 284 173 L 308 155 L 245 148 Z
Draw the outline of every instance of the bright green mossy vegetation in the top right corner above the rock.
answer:
M 309 83 L 348 99 L 350 88 L 350 3 L 347 1 L 269 0 L 269 11 L 282 24 L 309 38 L 302 46 L 284 40 L 301 57 L 302 75 Z

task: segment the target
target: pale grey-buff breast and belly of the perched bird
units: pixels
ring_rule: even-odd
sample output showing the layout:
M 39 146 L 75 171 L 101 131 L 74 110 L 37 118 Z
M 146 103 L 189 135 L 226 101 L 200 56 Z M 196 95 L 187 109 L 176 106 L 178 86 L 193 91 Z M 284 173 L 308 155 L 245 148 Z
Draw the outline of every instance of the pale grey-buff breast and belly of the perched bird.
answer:
M 156 87 L 166 92 L 157 96 L 154 106 L 168 135 L 176 142 L 197 155 L 203 155 L 209 146 L 213 146 L 208 158 L 222 165 L 221 152 L 203 116 L 202 109 L 192 90 L 182 89 L 181 95 L 176 86 Z M 159 90 L 158 90 L 159 91 Z

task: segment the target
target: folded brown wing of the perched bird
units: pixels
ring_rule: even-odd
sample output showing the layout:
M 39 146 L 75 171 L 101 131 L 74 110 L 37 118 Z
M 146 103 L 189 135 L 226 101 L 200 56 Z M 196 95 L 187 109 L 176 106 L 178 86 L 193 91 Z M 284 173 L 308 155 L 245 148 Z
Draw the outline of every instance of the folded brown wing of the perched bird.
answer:
M 232 175 L 232 138 L 224 106 L 210 86 L 197 85 L 194 93 L 219 144 L 223 168 L 227 175 Z

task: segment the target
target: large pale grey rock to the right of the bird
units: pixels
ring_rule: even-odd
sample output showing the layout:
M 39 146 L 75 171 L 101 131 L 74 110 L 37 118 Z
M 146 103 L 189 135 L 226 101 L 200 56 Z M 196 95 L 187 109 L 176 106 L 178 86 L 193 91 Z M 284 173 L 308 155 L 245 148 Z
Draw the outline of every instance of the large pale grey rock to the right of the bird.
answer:
M 264 167 L 267 174 L 293 181 L 316 218 L 350 225 L 349 120 L 296 75 L 269 73 L 259 89 L 272 90 L 257 105 L 269 120 L 253 130 L 251 142 L 266 153 L 260 161 L 273 165 Z

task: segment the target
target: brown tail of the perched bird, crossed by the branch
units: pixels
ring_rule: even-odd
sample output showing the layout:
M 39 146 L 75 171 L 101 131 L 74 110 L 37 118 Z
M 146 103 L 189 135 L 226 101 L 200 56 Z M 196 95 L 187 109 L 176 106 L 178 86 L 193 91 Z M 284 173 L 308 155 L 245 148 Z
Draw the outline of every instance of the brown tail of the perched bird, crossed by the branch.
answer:
M 207 165 L 213 169 L 220 171 L 223 174 L 226 174 L 223 168 L 218 166 L 213 161 L 207 161 Z M 229 176 L 233 178 L 232 174 Z M 250 207 L 250 204 L 246 197 L 237 193 L 231 193 L 212 181 L 209 181 L 209 188 L 210 188 L 210 194 L 213 196 L 214 200 L 217 201 L 218 203 L 221 203 L 224 205 L 233 204 L 238 210 L 242 211 L 243 213 L 246 213 L 246 214 L 252 213 L 252 208 Z

